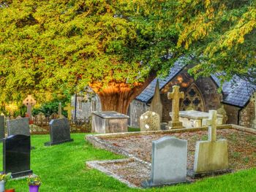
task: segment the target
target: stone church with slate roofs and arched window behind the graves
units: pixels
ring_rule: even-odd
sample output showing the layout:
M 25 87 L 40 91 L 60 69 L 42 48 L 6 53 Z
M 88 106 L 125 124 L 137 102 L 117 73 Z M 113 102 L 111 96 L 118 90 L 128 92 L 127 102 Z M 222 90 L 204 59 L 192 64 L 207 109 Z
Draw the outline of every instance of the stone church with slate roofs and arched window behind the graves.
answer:
M 190 66 L 184 66 L 176 62 L 170 69 L 170 74 L 164 79 L 153 80 L 129 106 L 129 126 L 139 127 L 139 118 L 149 110 L 151 101 L 157 91 L 159 82 L 160 100 L 162 102 L 162 123 L 170 121 L 171 100 L 167 99 L 167 92 L 172 91 L 173 85 L 180 86 L 184 91 L 184 99 L 181 99 L 180 110 L 197 110 L 208 112 L 217 110 L 224 115 L 223 123 L 232 123 L 245 127 L 253 127 L 255 123 L 255 102 L 252 98 L 256 86 L 249 82 L 234 77 L 232 81 L 222 85 L 222 91 L 218 89 L 220 82 L 217 76 L 200 77 L 195 80 L 188 74 Z M 84 101 L 84 97 L 72 96 L 72 105 L 75 110 L 73 118 L 89 118 L 91 112 L 100 111 L 99 98 L 94 96 L 90 101 Z

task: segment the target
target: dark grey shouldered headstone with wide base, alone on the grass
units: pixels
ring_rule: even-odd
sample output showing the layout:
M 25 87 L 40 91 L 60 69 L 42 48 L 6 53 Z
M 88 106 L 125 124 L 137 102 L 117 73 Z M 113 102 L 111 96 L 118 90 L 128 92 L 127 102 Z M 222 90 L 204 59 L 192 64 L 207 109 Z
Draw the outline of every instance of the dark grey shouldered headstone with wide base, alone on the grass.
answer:
M 69 120 L 53 119 L 50 120 L 50 142 L 45 142 L 45 146 L 59 145 L 64 142 L 73 142 L 70 138 Z

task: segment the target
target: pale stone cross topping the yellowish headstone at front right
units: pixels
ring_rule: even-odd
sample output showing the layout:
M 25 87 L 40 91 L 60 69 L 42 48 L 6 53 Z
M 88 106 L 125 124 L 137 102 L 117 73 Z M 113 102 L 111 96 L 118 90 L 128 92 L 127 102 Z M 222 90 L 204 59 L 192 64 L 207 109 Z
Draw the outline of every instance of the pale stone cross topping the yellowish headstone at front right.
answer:
M 206 120 L 208 126 L 208 141 L 216 142 L 217 138 L 217 111 L 209 110 L 209 118 Z

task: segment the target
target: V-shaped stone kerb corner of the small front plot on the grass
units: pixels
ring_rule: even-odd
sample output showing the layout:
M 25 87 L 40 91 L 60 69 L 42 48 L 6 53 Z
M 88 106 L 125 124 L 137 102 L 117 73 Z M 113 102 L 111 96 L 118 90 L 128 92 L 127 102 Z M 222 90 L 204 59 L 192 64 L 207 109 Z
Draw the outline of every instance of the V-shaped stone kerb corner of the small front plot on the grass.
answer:
M 132 183 L 129 183 L 129 181 L 124 180 L 122 177 L 118 176 L 118 174 L 108 171 L 108 169 L 105 169 L 104 166 L 100 165 L 100 164 L 109 164 L 109 163 L 129 162 L 131 160 L 132 158 L 123 158 L 123 159 L 107 160 L 107 161 L 87 161 L 86 165 L 90 168 L 98 169 L 100 172 L 103 172 L 109 175 L 110 177 L 113 177 L 116 180 L 121 181 L 121 183 L 128 185 L 129 188 L 140 188 Z

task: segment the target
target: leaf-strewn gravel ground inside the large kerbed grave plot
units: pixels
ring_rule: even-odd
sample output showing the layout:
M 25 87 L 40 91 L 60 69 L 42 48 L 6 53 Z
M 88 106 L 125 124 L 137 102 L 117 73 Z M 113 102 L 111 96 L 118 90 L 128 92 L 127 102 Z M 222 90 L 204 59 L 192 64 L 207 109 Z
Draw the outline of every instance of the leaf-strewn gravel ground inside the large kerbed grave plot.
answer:
M 192 169 L 195 142 L 208 139 L 208 131 L 193 131 L 167 134 L 134 135 L 117 138 L 101 138 L 118 149 L 151 163 L 152 141 L 170 136 L 188 140 L 188 169 Z M 217 130 L 217 139 L 227 139 L 230 169 L 249 169 L 256 166 L 256 135 L 225 128 Z

